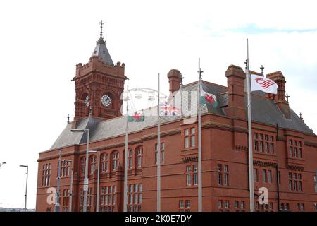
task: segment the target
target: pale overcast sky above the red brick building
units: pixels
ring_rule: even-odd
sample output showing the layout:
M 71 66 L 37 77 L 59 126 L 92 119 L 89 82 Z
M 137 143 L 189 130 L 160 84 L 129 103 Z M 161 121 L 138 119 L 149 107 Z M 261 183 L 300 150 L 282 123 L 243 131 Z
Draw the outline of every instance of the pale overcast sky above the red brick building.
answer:
M 0 206 L 35 208 L 38 153 L 74 116 L 75 65 L 89 61 L 104 20 L 113 62 L 129 88 L 161 87 L 178 69 L 184 83 L 227 85 L 230 64 L 282 71 L 290 106 L 317 131 L 316 1 L 0 1 Z

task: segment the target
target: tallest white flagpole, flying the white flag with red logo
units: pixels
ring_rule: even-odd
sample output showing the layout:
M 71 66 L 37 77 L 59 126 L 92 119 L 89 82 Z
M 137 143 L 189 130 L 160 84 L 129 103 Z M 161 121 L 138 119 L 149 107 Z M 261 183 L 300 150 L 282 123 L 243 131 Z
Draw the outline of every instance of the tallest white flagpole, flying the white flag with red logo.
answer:
M 253 169 L 253 151 L 252 151 L 252 120 L 251 120 L 251 79 L 249 72 L 249 41 L 247 39 L 247 99 L 248 99 L 248 139 L 249 139 L 249 189 L 250 189 L 250 212 L 254 212 L 254 169 Z

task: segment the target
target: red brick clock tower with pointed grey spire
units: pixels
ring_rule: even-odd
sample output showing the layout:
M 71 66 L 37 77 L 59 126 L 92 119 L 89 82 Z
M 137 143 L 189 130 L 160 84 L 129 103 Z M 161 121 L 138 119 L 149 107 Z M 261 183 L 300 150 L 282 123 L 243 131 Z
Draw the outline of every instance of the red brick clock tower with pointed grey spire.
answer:
M 112 119 L 121 115 L 121 94 L 125 84 L 125 64 L 113 64 L 102 35 L 87 64 L 76 65 L 75 81 L 75 119 L 92 117 Z

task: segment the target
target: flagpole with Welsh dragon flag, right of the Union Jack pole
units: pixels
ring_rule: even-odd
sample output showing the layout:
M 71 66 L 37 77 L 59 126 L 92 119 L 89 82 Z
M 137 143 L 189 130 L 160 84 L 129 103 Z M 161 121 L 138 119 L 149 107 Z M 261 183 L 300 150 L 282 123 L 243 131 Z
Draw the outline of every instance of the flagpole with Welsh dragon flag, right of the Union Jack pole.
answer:
M 201 89 L 201 69 L 200 58 L 198 59 L 198 212 L 202 211 L 202 190 L 201 190 L 201 111 L 200 111 L 200 89 Z

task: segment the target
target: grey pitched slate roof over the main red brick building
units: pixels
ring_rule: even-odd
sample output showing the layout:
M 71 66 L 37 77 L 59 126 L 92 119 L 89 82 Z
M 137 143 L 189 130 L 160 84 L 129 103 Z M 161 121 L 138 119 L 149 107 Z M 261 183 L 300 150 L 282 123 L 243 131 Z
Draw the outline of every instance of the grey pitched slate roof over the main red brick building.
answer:
M 203 81 L 202 88 L 208 92 L 216 95 L 218 100 L 218 107 L 214 109 L 211 106 L 201 105 L 201 113 L 211 112 L 213 114 L 225 115 L 223 107 L 228 105 L 228 93 L 227 88 L 221 85 L 208 83 Z M 197 82 L 191 83 L 189 85 L 183 86 L 184 91 L 194 91 L 197 90 Z M 183 95 L 185 102 L 189 102 L 189 94 Z M 245 107 L 247 108 L 247 95 L 245 97 Z M 156 108 L 156 107 L 154 107 Z M 147 115 L 147 111 L 151 109 L 145 109 L 144 114 Z M 156 110 L 154 110 L 156 112 Z M 268 100 L 265 97 L 265 93 L 258 91 L 251 95 L 251 113 L 252 121 L 258 121 L 263 124 L 270 124 L 273 126 L 278 126 L 284 129 L 294 129 L 297 131 L 302 131 L 304 133 L 309 133 L 314 135 L 313 131 L 309 129 L 308 126 L 300 119 L 297 114 L 290 109 L 290 119 L 286 119 L 284 114 L 275 105 L 273 100 Z M 161 122 L 166 123 L 168 121 L 174 121 L 180 119 L 180 117 L 162 117 Z M 114 119 L 103 120 L 88 117 L 81 119 L 77 122 L 77 128 L 89 129 L 90 131 L 90 141 L 99 141 L 105 138 L 111 138 L 113 136 L 123 135 L 125 133 L 126 117 L 116 117 Z M 128 131 L 141 131 L 148 126 L 154 126 L 157 124 L 157 117 L 147 116 L 143 122 L 130 122 L 128 126 Z M 61 135 L 58 136 L 55 143 L 51 146 L 51 149 L 61 148 L 68 145 L 86 143 L 87 134 L 86 133 L 72 133 L 71 124 L 67 124 L 66 128 L 62 131 Z

